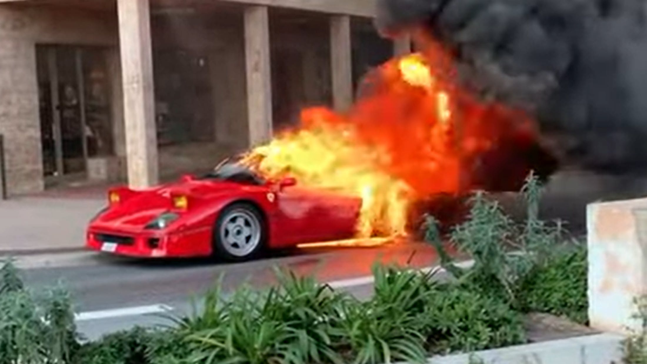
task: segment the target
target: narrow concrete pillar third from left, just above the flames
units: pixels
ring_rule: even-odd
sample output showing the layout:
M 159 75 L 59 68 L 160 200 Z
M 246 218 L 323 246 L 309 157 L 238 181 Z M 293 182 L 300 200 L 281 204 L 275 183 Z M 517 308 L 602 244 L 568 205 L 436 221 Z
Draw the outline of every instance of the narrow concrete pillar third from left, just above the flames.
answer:
M 351 52 L 351 17 L 330 19 L 330 64 L 333 79 L 333 106 L 347 111 L 353 104 L 353 63 Z

